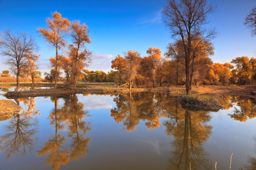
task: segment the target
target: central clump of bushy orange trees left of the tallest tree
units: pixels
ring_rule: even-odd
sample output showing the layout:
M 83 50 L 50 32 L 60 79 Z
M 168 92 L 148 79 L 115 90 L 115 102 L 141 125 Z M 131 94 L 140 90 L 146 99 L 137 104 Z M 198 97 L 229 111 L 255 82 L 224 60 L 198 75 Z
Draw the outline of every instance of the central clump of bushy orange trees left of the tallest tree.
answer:
M 111 68 L 117 70 L 115 82 L 119 85 L 128 85 L 130 89 L 133 83 L 137 86 L 143 84 L 155 87 L 156 76 L 162 76 L 166 60 L 161 57 L 158 48 L 149 47 L 146 53 L 148 56 L 141 58 L 137 51 L 129 50 L 124 57 L 118 55 L 113 59 Z

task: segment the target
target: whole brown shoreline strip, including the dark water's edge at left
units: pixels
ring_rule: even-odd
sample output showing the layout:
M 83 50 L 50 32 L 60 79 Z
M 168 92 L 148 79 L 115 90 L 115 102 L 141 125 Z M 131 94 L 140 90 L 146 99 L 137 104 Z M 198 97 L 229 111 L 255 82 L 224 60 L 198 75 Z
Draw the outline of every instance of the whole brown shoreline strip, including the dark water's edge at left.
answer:
M 51 87 L 53 84 L 46 83 L 21 83 L 21 87 Z M 0 88 L 8 88 L 13 86 L 13 83 L 0 84 Z M 13 86 L 14 87 L 14 86 Z M 168 93 L 171 95 L 186 95 L 184 85 L 180 86 L 165 86 L 165 87 L 138 87 L 132 88 L 131 93 L 134 92 L 155 92 L 155 93 Z M 24 98 L 24 97 L 37 97 L 37 96 L 58 96 L 69 95 L 75 93 L 95 93 L 95 94 L 113 94 L 113 93 L 129 93 L 129 89 L 122 87 L 118 88 L 115 84 L 110 83 L 89 83 L 79 84 L 75 89 L 66 89 L 64 84 L 58 84 L 58 89 L 32 89 L 28 91 L 8 92 L 4 96 L 7 98 Z M 237 95 L 246 96 L 256 99 L 256 85 L 200 85 L 192 86 L 193 94 L 217 94 L 217 95 Z

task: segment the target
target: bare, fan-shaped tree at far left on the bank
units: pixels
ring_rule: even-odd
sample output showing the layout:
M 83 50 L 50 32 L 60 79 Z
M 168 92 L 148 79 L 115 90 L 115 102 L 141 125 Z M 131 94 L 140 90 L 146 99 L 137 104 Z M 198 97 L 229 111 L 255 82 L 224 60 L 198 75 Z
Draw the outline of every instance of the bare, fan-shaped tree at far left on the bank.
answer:
M 17 87 L 15 92 L 19 89 L 20 73 L 28 65 L 27 53 L 29 51 L 36 51 L 38 46 L 32 37 L 27 33 L 11 34 L 9 30 L 5 31 L 3 40 L 1 41 L 1 55 L 6 56 L 6 64 L 9 65 L 11 71 L 16 75 Z

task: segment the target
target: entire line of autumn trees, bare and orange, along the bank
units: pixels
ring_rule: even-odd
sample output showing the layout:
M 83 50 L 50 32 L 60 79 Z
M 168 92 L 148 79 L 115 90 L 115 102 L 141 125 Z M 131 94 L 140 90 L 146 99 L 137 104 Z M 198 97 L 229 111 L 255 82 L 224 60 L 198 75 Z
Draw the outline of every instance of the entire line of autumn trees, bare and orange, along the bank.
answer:
M 70 22 L 58 12 L 53 12 L 51 18 L 46 19 L 48 28 L 38 28 L 37 32 L 46 39 L 54 49 L 55 56 L 50 58 L 53 68 L 45 73 L 46 79 L 55 82 L 63 81 L 68 87 L 76 87 L 77 81 L 82 79 L 90 82 L 112 82 L 119 85 L 151 85 L 167 83 L 169 85 L 185 84 L 186 93 L 191 94 L 192 84 L 222 84 L 251 85 L 256 80 L 256 61 L 254 58 L 238 57 L 230 63 L 212 63 L 209 56 L 214 54 L 211 40 L 215 37 L 215 29 L 206 29 L 208 14 L 215 11 L 215 7 L 207 5 L 206 0 L 167 0 L 163 8 L 163 19 L 171 35 L 176 40 L 169 43 L 165 58 L 161 57 L 158 48 L 149 47 L 146 57 L 141 58 L 137 51 L 129 50 L 124 57 L 118 55 L 112 60 L 108 74 L 103 71 L 84 70 L 91 62 L 91 52 L 85 48 L 91 43 L 87 26 L 80 21 Z M 244 24 L 256 34 L 256 8 L 247 15 Z M 67 46 L 67 38 L 71 43 Z M 7 56 L 6 64 L 17 77 L 41 76 L 36 71 L 40 55 L 35 54 L 38 46 L 31 35 L 26 33 L 11 34 L 7 30 L 0 41 L 1 55 Z M 66 56 L 61 55 L 64 50 Z M 61 77 L 61 72 L 64 77 Z

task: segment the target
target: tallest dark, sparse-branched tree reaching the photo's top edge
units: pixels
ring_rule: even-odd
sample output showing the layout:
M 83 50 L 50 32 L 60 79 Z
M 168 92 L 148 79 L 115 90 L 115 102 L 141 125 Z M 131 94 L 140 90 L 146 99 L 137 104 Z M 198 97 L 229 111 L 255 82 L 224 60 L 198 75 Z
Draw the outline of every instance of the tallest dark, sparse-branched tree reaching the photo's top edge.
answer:
M 165 25 L 170 29 L 172 36 L 181 39 L 183 44 L 187 94 L 191 94 L 192 61 L 196 57 L 196 49 L 201 42 L 209 42 L 215 34 L 214 30 L 207 31 L 202 28 L 208 23 L 207 15 L 214 10 L 211 5 L 207 6 L 206 0 L 180 0 L 179 3 L 176 0 L 167 0 L 163 9 Z M 200 41 L 192 48 L 194 40 Z M 198 52 L 200 51 L 196 53 Z

